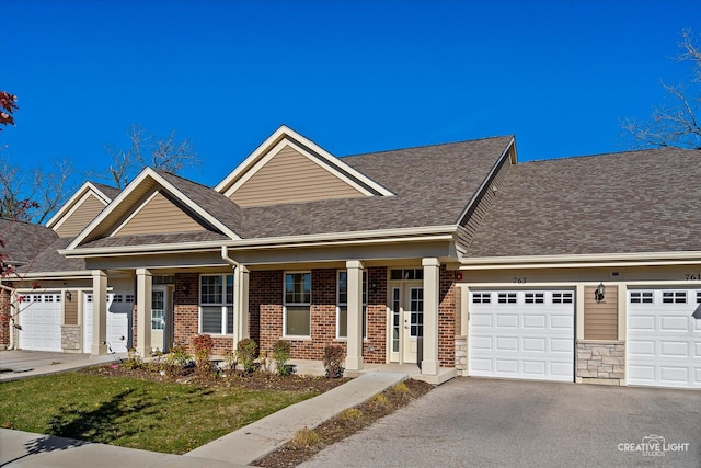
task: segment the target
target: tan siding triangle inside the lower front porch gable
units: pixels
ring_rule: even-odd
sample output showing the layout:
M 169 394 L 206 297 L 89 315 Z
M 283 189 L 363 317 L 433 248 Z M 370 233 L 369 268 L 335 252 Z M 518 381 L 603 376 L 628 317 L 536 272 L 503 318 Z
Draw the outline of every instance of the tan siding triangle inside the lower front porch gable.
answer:
M 192 232 L 205 228 L 170 199 L 157 192 L 114 236 Z

